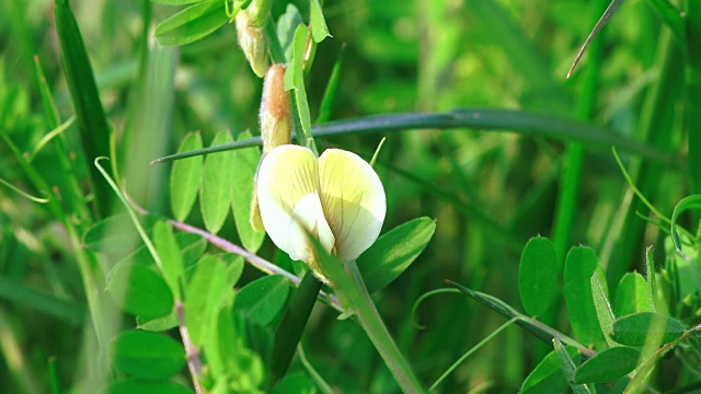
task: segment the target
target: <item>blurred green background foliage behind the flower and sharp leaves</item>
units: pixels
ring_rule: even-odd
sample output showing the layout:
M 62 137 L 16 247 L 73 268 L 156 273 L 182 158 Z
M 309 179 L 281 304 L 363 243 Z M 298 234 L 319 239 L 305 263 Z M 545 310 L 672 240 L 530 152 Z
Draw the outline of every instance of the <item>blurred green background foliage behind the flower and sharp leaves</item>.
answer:
M 310 14 L 309 2 L 294 2 L 302 15 Z M 681 112 L 686 89 L 681 68 L 688 55 L 646 2 L 627 2 L 596 38 L 599 48 L 585 54 L 566 80 L 577 49 L 606 3 L 326 1 L 323 11 L 333 38 L 319 45 L 306 79 L 311 119 L 319 115 L 324 89 L 345 45 L 330 119 L 497 107 L 601 126 L 679 159 L 676 165 L 663 165 L 623 157 L 642 193 L 670 217 L 675 205 L 690 194 L 689 174 L 681 163 L 687 155 L 701 153 L 691 139 L 686 140 L 686 132 L 698 132 L 689 125 L 698 125 L 701 118 L 693 117 L 698 113 L 683 117 Z M 173 8 L 149 0 L 73 0 L 71 5 L 113 130 L 112 165 L 133 200 L 170 217 L 171 164 L 148 163 L 176 152 L 193 131 L 200 132 L 204 146 L 225 130 L 233 139 L 246 130 L 257 135 L 261 80 L 239 50 L 231 24 L 193 44 L 161 47 L 154 40 L 154 25 L 170 16 Z M 275 1 L 273 18 L 277 20 L 285 9 L 286 2 Z M 31 162 L 21 160 L 73 114 L 55 27 L 53 1 L 0 2 L 0 178 L 55 201 L 41 205 L 0 185 L 3 392 L 42 393 L 51 387 L 68 392 L 71 386 L 92 387 L 101 379 L 95 372 L 100 366 L 93 364 L 97 354 L 93 323 L 80 318 L 96 308 L 89 304 L 90 291 L 85 290 L 91 279 L 77 263 L 89 240 L 76 242 L 74 234 L 66 230 L 70 223 L 82 236 L 92 222 L 87 210 L 76 208 L 94 198 L 88 187 L 92 169 L 85 164 L 92 160 L 83 160 L 76 124 L 55 137 L 65 152 L 59 142 L 48 143 Z M 687 45 L 693 47 L 699 37 L 690 37 Z M 34 56 L 53 93 L 58 123 L 46 115 Z M 587 78 L 587 72 L 595 74 Z M 590 102 L 582 104 L 584 100 Z M 589 111 L 578 109 L 582 105 Z M 334 137 L 317 139 L 317 144 L 342 147 L 369 159 L 382 137 Z M 556 250 L 560 266 L 571 245 L 590 246 L 617 302 L 613 285 L 627 271 L 644 270 L 647 245 L 655 245 L 655 260 L 678 260 L 678 269 L 693 271 L 675 257 L 669 244 L 665 247 L 665 233 L 636 215 L 646 216 L 648 210 L 629 190 L 609 150 L 582 148 L 581 172 L 574 181 L 565 181 L 563 171 L 573 162 L 568 159 L 571 142 L 475 129 L 410 130 L 387 138 L 376 165 L 388 197 L 386 231 L 417 217 L 436 219 L 436 232 L 425 252 L 375 294 L 389 331 L 424 383 L 434 382 L 501 325 L 503 317 L 462 296 L 444 294 L 418 308 L 416 318 L 426 327 L 421 331 L 413 324 L 413 303 L 450 279 L 520 308 L 520 251 L 535 235 L 563 237 L 554 240 L 566 245 Z M 56 164 L 65 158 L 70 160 L 70 173 Z M 46 188 L 37 188 L 37 176 L 46 179 Z M 563 188 L 565 182 L 577 187 Z M 58 190 L 72 194 L 64 196 Z M 564 216 L 558 211 L 563 193 L 574 194 Z M 120 211 L 116 206 L 112 209 Z M 61 211 L 74 215 L 59 220 Z M 570 219 L 562 224 L 565 231 L 554 235 L 560 217 Z M 187 222 L 198 228 L 206 222 L 220 227 L 206 218 L 206 212 L 195 209 Z M 681 223 L 692 230 L 698 225 L 691 216 L 682 217 Z M 123 231 L 115 229 L 111 231 Z M 219 235 L 241 244 L 231 215 L 222 220 Z M 138 246 L 137 241 L 129 242 L 130 247 L 116 252 Z M 217 250 L 210 246 L 210 251 Z M 258 254 L 273 260 L 275 247 L 265 241 Z M 106 273 L 118 259 L 95 263 L 88 256 L 80 260 L 89 262 L 85 265 L 97 275 L 95 289 L 104 291 Z M 286 268 L 292 271 L 291 266 Z M 246 266 L 241 285 L 260 276 Z M 683 304 L 688 310 L 674 315 L 688 317 L 685 323 L 691 324 L 697 318 L 699 283 L 690 276 L 682 278 L 686 290 L 680 293 L 692 296 Z M 553 305 L 544 320 L 571 334 L 563 305 L 562 300 Z M 318 305 L 302 338 L 307 358 L 319 374 L 341 392 L 398 392 L 363 329 L 336 317 L 333 309 Z M 119 315 L 104 323 L 117 332 L 134 326 L 134 318 Z M 685 349 L 685 357 L 693 359 L 694 350 Z M 516 392 L 548 351 L 529 334 L 510 327 L 470 357 L 439 391 Z M 300 360 L 292 370 L 302 370 Z M 673 358 L 659 363 L 650 384 L 666 391 L 694 378 L 691 369 Z M 181 382 L 186 384 L 187 379 Z

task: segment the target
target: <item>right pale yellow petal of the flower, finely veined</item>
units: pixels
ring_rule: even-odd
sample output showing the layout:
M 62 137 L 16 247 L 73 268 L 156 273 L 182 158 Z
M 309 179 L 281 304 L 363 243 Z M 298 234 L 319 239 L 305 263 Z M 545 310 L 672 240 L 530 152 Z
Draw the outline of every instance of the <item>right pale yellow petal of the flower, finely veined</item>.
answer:
M 375 243 L 387 211 L 375 170 L 355 153 L 327 149 L 319 158 L 321 205 L 336 239 L 336 255 L 356 259 Z

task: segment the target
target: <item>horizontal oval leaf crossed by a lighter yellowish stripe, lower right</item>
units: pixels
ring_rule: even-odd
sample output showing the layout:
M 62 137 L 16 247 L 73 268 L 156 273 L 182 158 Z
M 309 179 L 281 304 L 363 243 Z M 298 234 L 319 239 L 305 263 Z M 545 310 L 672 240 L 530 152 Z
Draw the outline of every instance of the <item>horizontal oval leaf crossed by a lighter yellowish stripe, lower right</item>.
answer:
M 679 338 L 683 325 L 669 316 L 653 312 L 639 312 L 613 322 L 612 337 L 629 346 L 659 346 Z

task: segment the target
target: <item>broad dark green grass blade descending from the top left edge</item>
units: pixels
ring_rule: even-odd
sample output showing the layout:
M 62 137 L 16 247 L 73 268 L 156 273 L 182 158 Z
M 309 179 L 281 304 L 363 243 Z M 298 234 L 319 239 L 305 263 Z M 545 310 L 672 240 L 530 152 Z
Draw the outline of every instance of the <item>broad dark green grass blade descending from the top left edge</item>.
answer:
M 96 218 L 105 218 L 110 213 L 112 195 L 101 182 L 100 172 L 90 163 L 97 157 L 110 154 L 110 128 L 83 38 L 68 0 L 55 0 L 55 16 L 64 72 L 95 194 L 94 213 Z

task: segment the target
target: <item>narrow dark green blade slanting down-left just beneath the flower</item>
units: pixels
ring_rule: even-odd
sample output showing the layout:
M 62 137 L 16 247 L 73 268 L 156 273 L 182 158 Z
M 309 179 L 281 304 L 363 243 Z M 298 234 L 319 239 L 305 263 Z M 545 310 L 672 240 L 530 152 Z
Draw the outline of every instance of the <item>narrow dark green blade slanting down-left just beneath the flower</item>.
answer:
M 273 383 L 283 378 L 287 372 L 287 368 L 292 361 L 297 345 L 302 337 L 320 290 L 321 282 L 314 277 L 311 270 L 308 270 L 299 283 L 299 287 L 295 290 L 292 301 L 287 308 L 283 321 L 275 333 L 273 361 L 271 363 Z

